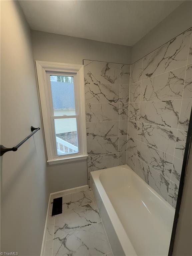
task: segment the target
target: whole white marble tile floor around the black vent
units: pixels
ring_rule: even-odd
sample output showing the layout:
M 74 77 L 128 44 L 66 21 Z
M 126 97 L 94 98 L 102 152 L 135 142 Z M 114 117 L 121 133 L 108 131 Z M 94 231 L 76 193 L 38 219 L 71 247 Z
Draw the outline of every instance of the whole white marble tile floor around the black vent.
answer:
M 49 209 L 44 256 L 113 256 L 91 189 L 63 197 L 63 212 Z

